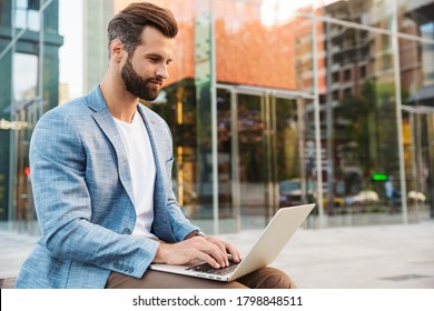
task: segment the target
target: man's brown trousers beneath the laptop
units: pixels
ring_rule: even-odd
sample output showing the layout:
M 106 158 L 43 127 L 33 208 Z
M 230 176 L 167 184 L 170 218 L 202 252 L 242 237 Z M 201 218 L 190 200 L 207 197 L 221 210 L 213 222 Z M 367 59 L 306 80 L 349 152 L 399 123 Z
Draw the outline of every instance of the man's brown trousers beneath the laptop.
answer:
M 295 289 L 294 282 L 283 271 L 265 267 L 233 282 L 148 270 L 140 279 L 111 272 L 107 289 Z

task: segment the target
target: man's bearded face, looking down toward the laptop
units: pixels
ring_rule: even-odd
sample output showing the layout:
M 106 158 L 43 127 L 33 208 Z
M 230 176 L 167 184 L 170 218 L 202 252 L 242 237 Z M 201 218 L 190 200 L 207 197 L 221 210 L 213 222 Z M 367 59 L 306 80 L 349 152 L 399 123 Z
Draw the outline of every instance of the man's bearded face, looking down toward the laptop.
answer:
M 121 78 L 128 92 L 144 100 L 155 100 L 168 78 L 167 67 L 172 60 L 174 39 L 151 27 L 141 33 L 141 44 L 128 56 Z

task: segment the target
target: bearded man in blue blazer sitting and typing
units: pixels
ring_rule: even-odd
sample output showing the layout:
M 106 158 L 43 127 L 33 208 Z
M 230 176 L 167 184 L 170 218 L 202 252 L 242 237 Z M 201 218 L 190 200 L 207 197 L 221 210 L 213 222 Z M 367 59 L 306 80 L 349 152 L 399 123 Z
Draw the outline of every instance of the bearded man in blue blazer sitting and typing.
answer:
M 148 269 L 193 259 L 220 268 L 227 253 L 240 260 L 181 213 L 169 128 L 139 104 L 155 100 L 168 77 L 177 31 L 170 11 L 130 4 L 109 23 L 101 84 L 38 122 L 30 169 L 42 237 L 18 288 L 294 288 L 272 268 L 230 283 Z

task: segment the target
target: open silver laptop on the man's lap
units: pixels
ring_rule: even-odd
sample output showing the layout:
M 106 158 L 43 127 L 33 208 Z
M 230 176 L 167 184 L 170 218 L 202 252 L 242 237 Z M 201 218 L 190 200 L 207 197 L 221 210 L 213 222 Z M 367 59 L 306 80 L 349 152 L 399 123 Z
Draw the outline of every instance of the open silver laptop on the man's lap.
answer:
M 210 264 L 200 261 L 191 261 L 186 265 L 152 263 L 150 269 L 217 281 L 234 281 L 237 278 L 270 264 L 314 207 L 315 204 L 305 204 L 279 209 L 253 249 L 239 263 L 231 262 L 229 267 L 221 269 L 215 269 Z

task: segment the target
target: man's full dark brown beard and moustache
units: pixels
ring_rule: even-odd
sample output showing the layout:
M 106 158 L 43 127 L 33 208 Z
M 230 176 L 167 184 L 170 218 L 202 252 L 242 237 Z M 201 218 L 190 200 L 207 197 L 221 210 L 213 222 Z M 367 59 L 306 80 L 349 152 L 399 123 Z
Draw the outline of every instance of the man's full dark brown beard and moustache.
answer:
M 125 83 L 125 87 L 128 92 L 134 94 L 137 98 L 152 101 L 158 97 L 159 89 L 150 88 L 148 82 L 150 81 L 158 81 L 161 82 L 160 78 L 149 78 L 144 79 L 137 72 L 134 70 L 130 59 L 128 58 L 120 76 L 122 78 L 122 81 Z

